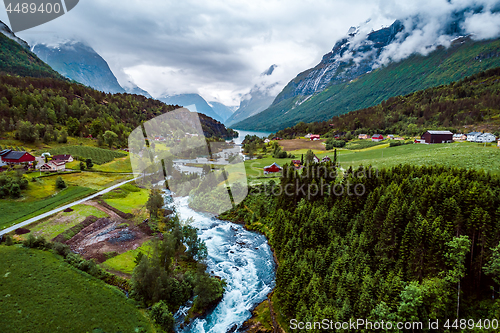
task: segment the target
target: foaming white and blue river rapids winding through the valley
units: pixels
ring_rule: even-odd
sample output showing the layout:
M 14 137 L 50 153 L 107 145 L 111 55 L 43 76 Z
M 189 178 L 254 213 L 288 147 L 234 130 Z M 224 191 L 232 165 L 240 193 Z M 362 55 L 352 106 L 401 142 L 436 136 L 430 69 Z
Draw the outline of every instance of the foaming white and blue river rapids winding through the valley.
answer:
M 175 314 L 177 332 L 225 333 L 236 331 L 249 319 L 251 310 L 264 301 L 274 286 L 276 264 L 264 235 L 245 230 L 242 225 L 199 213 L 188 206 L 187 197 L 174 199 L 182 220 L 193 218 L 192 226 L 206 244 L 207 270 L 226 281 L 224 296 L 203 318 L 194 319 L 182 329 L 190 303 Z

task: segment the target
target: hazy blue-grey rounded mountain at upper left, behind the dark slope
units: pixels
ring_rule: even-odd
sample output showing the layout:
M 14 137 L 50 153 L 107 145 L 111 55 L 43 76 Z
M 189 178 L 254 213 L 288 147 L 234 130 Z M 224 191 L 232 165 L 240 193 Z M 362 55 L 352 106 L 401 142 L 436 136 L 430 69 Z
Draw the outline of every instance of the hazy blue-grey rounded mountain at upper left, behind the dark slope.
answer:
M 124 93 L 108 63 L 80 42 L 57 46 L 37 44 L 33 52 L 63 76 L 106 93 Z

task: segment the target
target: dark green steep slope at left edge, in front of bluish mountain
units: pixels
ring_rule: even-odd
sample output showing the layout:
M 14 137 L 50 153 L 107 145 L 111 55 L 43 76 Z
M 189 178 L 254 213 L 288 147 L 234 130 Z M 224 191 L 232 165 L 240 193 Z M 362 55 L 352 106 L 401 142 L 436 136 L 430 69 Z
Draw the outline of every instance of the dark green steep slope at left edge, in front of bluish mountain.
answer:
M 0 34 L 0 72 L 19 76 L 64 79 L 33 54 L 28 44 L 16 37 L 2 21 L 0 21 L 0 30 L 2 32 Z

